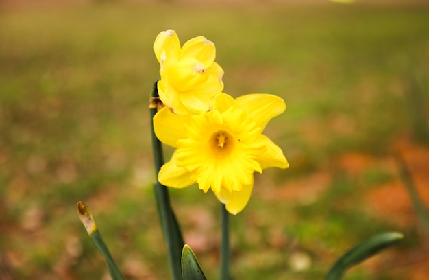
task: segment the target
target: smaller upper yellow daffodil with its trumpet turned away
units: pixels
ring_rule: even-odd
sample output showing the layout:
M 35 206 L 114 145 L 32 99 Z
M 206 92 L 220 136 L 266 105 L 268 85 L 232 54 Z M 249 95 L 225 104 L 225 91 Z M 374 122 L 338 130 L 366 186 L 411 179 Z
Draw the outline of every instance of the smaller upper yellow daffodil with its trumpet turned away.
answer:
M 223 69 L 215 62 L 215 44 L 203 36 L 180 47 L 174 30 L 156 37 L 154 51 L 160 62 L 160 99 L 174 113 L 199 113 L 212 108 L 223 89 Z

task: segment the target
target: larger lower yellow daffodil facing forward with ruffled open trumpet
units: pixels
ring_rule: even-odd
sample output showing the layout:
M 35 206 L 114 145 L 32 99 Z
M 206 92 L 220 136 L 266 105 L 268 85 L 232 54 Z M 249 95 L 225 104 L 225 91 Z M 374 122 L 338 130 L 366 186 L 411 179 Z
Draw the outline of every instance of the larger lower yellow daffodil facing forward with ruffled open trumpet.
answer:
M 156 136 L 177 149 L 158 180 L 177 188 L 198 183 L 204 192 L 212 189 L 230 213 L 239 213 L 252 194 L 255 171 L 289 167 L 278 145 L 262 135 L 268 121 L 285 109 L 275 95 L 234 100 L 225 93 L 215 97 L 207 113 L 175 115 L 162 108 L 154 117 Z

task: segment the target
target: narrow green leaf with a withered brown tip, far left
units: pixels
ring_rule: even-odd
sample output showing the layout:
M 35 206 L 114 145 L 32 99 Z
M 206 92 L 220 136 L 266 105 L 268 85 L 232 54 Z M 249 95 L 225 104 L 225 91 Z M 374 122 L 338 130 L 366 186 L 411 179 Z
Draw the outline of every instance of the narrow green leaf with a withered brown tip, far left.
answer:
M 112 255 L 110 255 L 108 247 L 106 246 L 106 243 L 104 243 L 103 237 L 101 237 L 101 234 L 97 229 L 97 224 L 95 224 L 93 213 L 91 213 L 89 207 L 85 205 L 84 202 L 79 201 L 77 202 L 77 213 L 79 213 L 79 218 L 82 224 L 84 224 L 86 232 L 88 232 L 88 235 L 93 241 L 95 247 L 97 247 L 101 255 L 103 255 L 104 259 L 106 260 L 112 280 L 123 280 L 121 272 L 115 264 Z

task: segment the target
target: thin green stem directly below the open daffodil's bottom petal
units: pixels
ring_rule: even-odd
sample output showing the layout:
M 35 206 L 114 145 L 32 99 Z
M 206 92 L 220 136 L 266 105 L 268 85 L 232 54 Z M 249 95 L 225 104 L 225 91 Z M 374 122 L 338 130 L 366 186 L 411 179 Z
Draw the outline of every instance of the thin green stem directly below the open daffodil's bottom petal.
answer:
M 221 280 L 230 280 L 230 223 L 229 213 L 221 203 Z

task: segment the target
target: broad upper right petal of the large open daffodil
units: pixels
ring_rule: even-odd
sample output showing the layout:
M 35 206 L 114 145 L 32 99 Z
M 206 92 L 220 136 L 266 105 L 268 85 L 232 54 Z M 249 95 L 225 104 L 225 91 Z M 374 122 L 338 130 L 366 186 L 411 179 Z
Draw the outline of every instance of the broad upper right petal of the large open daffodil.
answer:
M 235 102 L 256 121 L 257 126 L 262 130 L 270 119 L 286 110 L 286 104 L 282 98 L 265 93 L 243 95 L 236 98 Z

